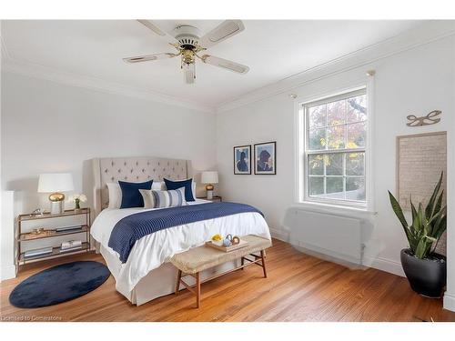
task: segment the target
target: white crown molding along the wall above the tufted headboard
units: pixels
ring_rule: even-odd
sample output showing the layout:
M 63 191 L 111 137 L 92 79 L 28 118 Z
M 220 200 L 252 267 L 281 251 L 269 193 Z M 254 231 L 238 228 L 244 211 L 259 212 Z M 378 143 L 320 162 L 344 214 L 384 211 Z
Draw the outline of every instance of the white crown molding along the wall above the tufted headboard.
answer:
M 3 55 L 4 58 L 2 60 L 2 72 L 45 79 L 63 85 L 83 87 L 110 95 L 126 95 L 128 97 L 140 98 L 166 105 L 175 105 L 211 114 L 215 113 L 215 108 L 213 107 L 182 100 L 171 95 L 160 94 L 153 90 L 141 90 L 96 77 L 66 73 L 49 66 L 18 61 L 7 54 L 5 46 L 2 48 L 2 52 L 4 50 L 5 55 Z

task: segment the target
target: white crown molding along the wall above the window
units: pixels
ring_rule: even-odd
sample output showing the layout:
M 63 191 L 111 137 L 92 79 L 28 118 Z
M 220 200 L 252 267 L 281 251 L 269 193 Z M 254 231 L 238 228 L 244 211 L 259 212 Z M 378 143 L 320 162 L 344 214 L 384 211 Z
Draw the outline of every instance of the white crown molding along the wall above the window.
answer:
M 291 75 L 276 83 L 260 87 L 247 94 L 224 102 L 217 106 L 217 114 L 258 102 L 273 95 L 285 93 L 307 83 L 328 77 L 329 75 L 339 74 L 362 65 L 369 65 L 380 59 L 397 55 L 450 35 L 455 35 L 455 21 L 429 21 L 400 35 L 361 48 L 348 55 L 342 55 L 327 63 L 311 67 L 296 75 Z

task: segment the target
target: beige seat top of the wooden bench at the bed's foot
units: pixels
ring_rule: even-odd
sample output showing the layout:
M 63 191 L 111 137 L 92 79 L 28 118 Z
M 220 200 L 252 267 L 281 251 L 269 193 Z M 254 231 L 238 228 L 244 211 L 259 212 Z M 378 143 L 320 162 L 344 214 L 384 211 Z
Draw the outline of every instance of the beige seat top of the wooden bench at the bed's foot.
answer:
M 262 236 L 248 235 L 242 236 L 241 239 L 248 241 L 248 246 L 231 252 L 223 252 L 209 246 L 198 246 L 174 255 L 170 262 L 186 274 L 196 274 L 272 246 L 271 241 Z

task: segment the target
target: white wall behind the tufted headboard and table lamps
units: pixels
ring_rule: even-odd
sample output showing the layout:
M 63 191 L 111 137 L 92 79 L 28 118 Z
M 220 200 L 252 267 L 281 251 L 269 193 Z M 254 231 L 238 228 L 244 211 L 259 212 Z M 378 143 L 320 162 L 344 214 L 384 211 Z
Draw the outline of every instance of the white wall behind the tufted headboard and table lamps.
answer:
M 15 191 L 15 213 L 46 206 L 40 173 L 70 172 L 82 190 L 82 164 L 93 157 L 152 155 L 213 168 L 215 117 L 179 106 L 109 95 L 2 74 L 2 188 Z

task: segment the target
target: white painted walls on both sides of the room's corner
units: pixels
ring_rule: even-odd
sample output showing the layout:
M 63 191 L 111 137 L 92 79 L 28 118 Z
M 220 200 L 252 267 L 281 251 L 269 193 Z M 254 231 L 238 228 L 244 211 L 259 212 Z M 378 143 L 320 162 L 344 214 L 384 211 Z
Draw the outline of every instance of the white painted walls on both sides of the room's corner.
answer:
M 455 200 L 454 38 L 381 59 L 347 72 L 323 77 L 292 90 L 296 101 L 329 95 L 359 81 L 375 69 L 374 149 L 375 228 L 366 256 L 373 266 L 400 273 L 399 249 L 406 246 L 389 207 L 387 189 L 395 189 L 395 137 L 448 130 L 449 224 Z M 50 81 L 2 74 L 3 190 L 15 190 L 15 215 L 46 204 L 35 193 L 42 172 L 71 172 L 76 191 L 82 188 L 82 162 L 97 156 L 163 155 L 187 158 L 199 170 L 220 172 L 220 194 L 258 206 L 272 233 L 286 238 L 283 218 L 295 206 L 295 101 L 288 93 L 217 115 L 164 105 Z M 406 115 L 442 110 L 438 125 L 410 128 Z M 216 125 L 216 129 L 214 128 Z M 234 145 L 277 141 L 277 176 L 234 176 Z M 215 147 L 216 145 L 216 147 Z M 3 248 L 3 247 L 2 247 Z M 448 231 L 448 256 L 455 258 L 455 228 Z M 455 308 L 455 272 L 448 273 L 446 305 Z M 450 298 L 451 297 L 451 298 Z

